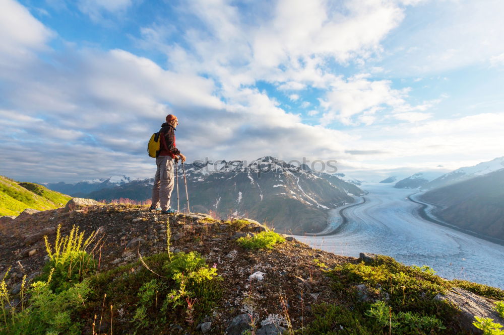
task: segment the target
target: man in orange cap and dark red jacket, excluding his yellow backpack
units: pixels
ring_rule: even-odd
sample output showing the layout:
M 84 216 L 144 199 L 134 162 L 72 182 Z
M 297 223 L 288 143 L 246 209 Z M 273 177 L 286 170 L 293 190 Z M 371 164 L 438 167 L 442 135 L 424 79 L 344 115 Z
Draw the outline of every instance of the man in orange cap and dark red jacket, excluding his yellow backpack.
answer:
M 152 187 L 152 202 L 150 210 L 161 211 L 163 214 L 176 213 L 170 208 L 171 192 L 173 191 L 173 162 L 178 162 L 178 157 L 185 161 L 185 156 L 175 146 L 175 128 L 178 120 L 175 115 L 168 114 L 166 123 L 161 125 L 161 147 L 159 155 L 156 158 L 156 177 Z

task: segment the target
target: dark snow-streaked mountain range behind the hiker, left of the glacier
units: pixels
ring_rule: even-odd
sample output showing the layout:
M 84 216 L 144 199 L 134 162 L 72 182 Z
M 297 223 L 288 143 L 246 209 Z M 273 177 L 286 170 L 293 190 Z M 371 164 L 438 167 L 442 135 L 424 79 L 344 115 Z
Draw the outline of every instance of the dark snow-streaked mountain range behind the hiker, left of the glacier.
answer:
M 250 163 L 240 160 L 184 164 L 192 211 L 222 218 L 253 216 L 266 220 L 277 231 L 318 232 L 327 223 L 327 209 L 352 203 L 363 194 L 356 185 L 308 166 L 296 166 L 271 156 Z M 179 204 L 186 204 L 182 165 L 178 166 Z M 151 197 L 153 179 L 137 180 L 92 192 L 93 199 Z M 171 206 L 176 208 L 176 189 Z

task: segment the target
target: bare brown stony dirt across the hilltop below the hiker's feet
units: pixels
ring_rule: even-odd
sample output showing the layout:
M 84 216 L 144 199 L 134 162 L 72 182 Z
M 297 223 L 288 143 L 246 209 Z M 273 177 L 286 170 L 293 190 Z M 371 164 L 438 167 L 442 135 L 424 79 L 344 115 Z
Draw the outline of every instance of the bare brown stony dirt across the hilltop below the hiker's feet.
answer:
M 199 252 L 224 278 L 221 308 L 212 316 L 211 332 L 223 333 L 232 318 L 243 313 L 240 303 L 245 296 L 254 298 L 258 306 L 254 312 L 261 320 L 269 314 L 282 314 L 278 298 L 282 293 L 288 301 L 294 328 L 300 327 L 301 322 L 306 324 L 311 318 L 310 305 L 338 299 L 331 290 L 331 280 L 314 260 L 327 268 L 357 262 L 352 257 L 312 249 L 293 238 L 272 250 L 244 249 L 233 238 L 236 227 L 224 221 L 203 221 L 120 205 L 94 206 L 72 212 L 63 209 L 37 212 L 0 226 L 0 274 L 12 268 L 8 280 L 12 289 L 19 286 L 23 275 L 40 272 L 47 255 L 43 234 L 48 234 L 48 240 L 53 242 L 58 225 L 61 225 L 62 235 L 67 235 L 73 225 L 86 231 L 85 236 L 98 231 L 101 247 L 94 250 L 94 257 L 99 260 L 98 271 L 104 272 L 138 261 L 139 254 L 147 257 L 165 252 L 166 224 L 169 222 L 172 250 Z M 250 224 L 241 231 L 257 232 L 258 226 Z M 250 278 L 256 272 L 263 273 L 264 279 Z M 91 318 L 92 311 L 89 312 Z M 125 324 L 124 329 L 128 326 Z

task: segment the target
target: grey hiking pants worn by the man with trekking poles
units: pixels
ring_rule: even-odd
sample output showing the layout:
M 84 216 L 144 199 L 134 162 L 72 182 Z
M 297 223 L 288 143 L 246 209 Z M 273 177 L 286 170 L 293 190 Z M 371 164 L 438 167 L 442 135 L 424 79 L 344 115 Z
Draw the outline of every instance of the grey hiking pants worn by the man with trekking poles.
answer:
M 156 179 L 152 187 L 152 206 L 158 207 L 161 203 L 161 210 L 170 208 L 171 192 L 173 191 L 173 158 L 170 156 L 159 156 L 156 158 Z

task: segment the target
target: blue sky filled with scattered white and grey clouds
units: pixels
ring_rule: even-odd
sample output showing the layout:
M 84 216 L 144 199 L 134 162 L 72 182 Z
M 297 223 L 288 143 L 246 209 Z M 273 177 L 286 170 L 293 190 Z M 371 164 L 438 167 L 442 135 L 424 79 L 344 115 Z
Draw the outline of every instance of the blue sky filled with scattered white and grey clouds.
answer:
M 0 4 L 0 174 L 17 180 L 150 177 L 168 113 L 189 160 L 372 179 L 504 155 L 498 0 Z

